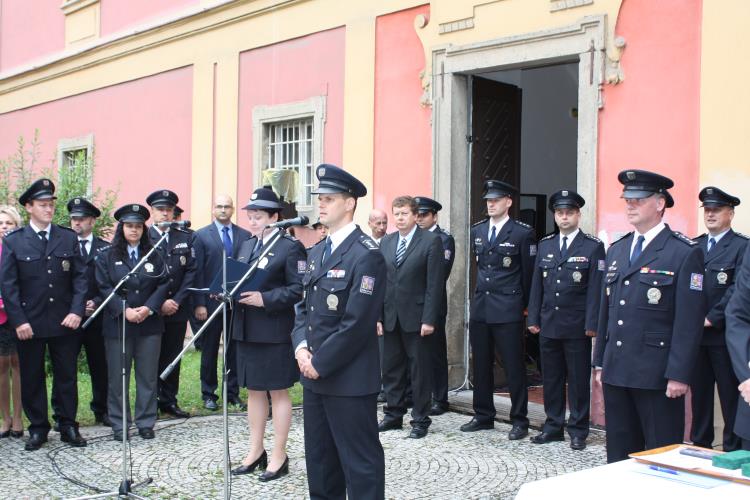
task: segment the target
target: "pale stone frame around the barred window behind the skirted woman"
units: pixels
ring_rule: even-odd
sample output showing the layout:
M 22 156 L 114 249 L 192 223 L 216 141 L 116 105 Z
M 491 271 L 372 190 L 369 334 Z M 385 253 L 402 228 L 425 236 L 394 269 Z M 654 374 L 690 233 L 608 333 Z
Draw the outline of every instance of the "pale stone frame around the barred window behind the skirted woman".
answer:
M 312 165 L 313 172 L 323 161 L 323 144 L 326 121 L 326 97 L 315 96 L 304 101 L 276 104 L 272 106 L 259 105 L 253 108 L 253 183 L 258 188 L 263 178 L 263 170 L 267 165 L 266 127 L 283 122 L 292 122 L 312 118 Z M 303 173 L 300 172 L 298 192 L 304 194 Z M 300 215 L 306 215 L 314 220 L 317 216 L 317 206 L 301 204 L 299 200 L 296 209 Z

